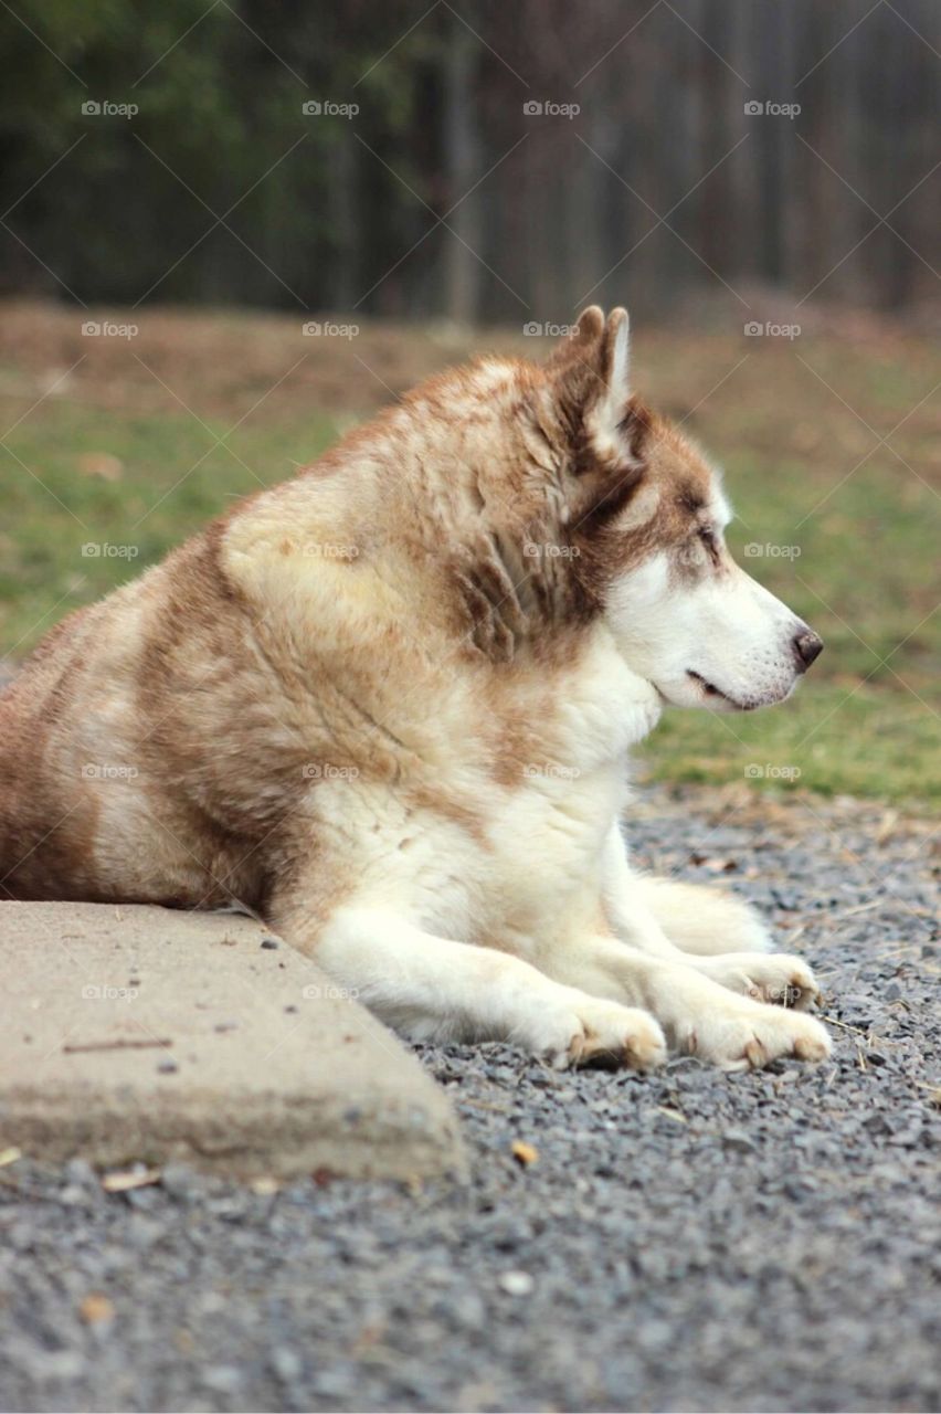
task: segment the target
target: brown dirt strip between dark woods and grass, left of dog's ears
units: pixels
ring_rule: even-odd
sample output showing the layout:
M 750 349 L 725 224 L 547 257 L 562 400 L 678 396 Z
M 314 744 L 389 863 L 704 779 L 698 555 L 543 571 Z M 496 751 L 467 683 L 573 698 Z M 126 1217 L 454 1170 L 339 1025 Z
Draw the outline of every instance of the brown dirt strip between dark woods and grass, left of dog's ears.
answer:
M 88 334 L 88 325 L 102 332 Z M 305 334 L 315 324 L 321 334 Z M 331 329 L 357 328 L 342 334 Z M 124 332 L 120 332 L 124 331 Z M 285 407 L 370 411 L 480 348 L 509 349 L 520 337 L 486 338 L 446 325 L 350 324 L 349 315 L 72 310 L 8 303 L 0 318 L 0 395 L 57 397 L 103 409 L 277 417 Z M 527 341 L 533 344 L 533 341 Z

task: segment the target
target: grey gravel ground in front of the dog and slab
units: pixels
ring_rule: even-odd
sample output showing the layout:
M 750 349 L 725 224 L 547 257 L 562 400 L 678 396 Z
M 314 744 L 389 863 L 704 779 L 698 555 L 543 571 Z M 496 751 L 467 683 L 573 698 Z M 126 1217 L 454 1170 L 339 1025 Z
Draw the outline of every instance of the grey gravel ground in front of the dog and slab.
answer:
M 424 1048 L 468 1184 L 318 1174 L 266 1193 L 168 1168 L 119 1195 L 81 1162 L 8 1164 L 0 1406 L 937 1410 L 928 827 L 660 790 L 634 837 L 795 939 L 838 1022 L 832 1063 L 641 1079 Z

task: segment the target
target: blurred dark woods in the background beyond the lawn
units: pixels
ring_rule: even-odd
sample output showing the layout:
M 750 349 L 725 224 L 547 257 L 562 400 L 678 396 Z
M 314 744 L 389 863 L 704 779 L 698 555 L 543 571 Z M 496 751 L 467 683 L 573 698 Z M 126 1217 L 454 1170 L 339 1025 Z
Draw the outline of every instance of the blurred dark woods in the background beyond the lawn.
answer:
M 754 279 L 937 298 L 941 10 L 870 6 L 10 0 L 3 288 L 513 321 Z

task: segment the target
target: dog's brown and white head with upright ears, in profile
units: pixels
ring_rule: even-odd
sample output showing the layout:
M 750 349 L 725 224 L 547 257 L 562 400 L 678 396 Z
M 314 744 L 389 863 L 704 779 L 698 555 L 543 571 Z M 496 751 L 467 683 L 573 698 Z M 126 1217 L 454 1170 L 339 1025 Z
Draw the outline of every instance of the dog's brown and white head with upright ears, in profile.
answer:
M 781 701 L 822 643 L 732 559 L 719 477 L 632 395 L 629 322 L 586 310 L 534 390 L 558 468 L 568 574 L 627 666 L 675 706 Z

